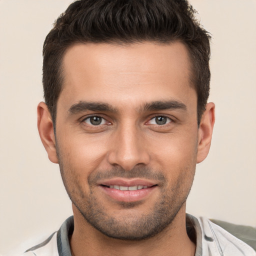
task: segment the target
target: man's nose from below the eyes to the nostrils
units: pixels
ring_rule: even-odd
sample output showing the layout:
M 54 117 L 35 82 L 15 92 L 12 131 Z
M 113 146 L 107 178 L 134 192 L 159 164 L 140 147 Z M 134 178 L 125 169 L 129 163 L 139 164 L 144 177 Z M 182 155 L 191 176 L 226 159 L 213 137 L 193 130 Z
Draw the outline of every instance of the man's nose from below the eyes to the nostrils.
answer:
M 125 170 L 131 170 L 136 165 L 147 165 L 150 157 L 141 133 L 134 125 L 124 125 L 117 129 L 111 137 L 108 162 Z

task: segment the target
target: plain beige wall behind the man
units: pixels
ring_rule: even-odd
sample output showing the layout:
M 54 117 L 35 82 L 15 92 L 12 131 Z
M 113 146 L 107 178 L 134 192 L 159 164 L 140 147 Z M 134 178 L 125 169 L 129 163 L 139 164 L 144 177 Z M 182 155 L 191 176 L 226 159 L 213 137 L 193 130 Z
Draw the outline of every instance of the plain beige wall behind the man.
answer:
M 36 129 L 41 49 L 70 0 L 0 0 L 0 253 L 13 255 L 71 214 Z M 256 0 L 191 0 L 212 33 L 216 123 L 187 211 L 256 226 Z M 7 253 L 9 252 L 9 253 Z

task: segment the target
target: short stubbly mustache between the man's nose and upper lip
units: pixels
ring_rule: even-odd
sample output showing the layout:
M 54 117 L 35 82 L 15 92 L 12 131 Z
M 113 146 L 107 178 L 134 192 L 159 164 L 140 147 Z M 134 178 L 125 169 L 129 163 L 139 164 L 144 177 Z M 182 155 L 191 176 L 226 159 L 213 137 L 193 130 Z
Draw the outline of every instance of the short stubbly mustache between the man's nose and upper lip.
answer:
M 159 170 L 154 170 L 149 167 L 134 167 L 131 170 L 125 170 L 122 167 L 113 167 L 110 170 L 98 170 L 92 172 L 88 176 L 88 183 L 97 183 L 100 179 L 111 179 L 111 178 L 145 178 L 157 180 L 159 183 L 164 183 L 166 180 L 163 173 Z

